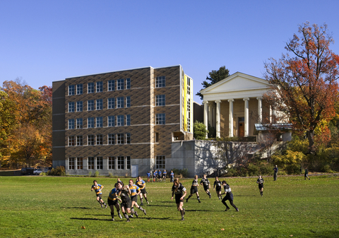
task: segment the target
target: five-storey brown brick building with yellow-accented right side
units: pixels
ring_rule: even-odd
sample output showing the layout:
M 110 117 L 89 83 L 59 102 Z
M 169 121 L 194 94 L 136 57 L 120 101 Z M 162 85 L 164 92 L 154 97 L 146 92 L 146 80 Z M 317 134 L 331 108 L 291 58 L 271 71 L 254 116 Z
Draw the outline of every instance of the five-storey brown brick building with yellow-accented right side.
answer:
M 193 81 L 182 66 L 53 82 L 53 167 L 136 177 L 166 167 L 172 142 L 193 139 Z

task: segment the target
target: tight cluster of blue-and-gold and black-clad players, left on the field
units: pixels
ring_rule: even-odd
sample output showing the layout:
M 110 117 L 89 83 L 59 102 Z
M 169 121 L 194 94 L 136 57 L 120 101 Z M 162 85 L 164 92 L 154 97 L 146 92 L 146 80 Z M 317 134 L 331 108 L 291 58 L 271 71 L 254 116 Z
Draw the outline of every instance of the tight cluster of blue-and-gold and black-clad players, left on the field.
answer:
M 140 176 L 136 180 L 136 184 L 130 179 L 129 184 L 125 186 L 124 183 L 118 179 L 117 183 L 114 184 L 114 189 L 109 191 L 109 196 L 107 198 L 108 206 L 111 209 L 112 221 L 114 221 L 114 207 L 117 210 L 119 218 L 122 219 L 120 213 L 121 210 L 127 222 L 130 222 L 129 218 L 133 218 L 133 215 L 136 215 L 136 218 L 138 218 L 138 213 L 134 210 L 134 206 L 146 215 L 146 210 L 141 207 L 143 206 L 143 198 L 150 204 L 147 199 L 145 186 L 145 181 L 143 181 Z M 100 206 L 102 208 L 107 208 L 107 204 L 102 200 L 103 188 L 104 186 L 97 184 L 97 181 L 94 180 L 91 191 L 95 190 L 97 201 L 100 203 Z M 138 196 L 140 196 L 141 200 L 140 206 L 138 205 Z M 131 215 L 129 215 L 129 213 Z

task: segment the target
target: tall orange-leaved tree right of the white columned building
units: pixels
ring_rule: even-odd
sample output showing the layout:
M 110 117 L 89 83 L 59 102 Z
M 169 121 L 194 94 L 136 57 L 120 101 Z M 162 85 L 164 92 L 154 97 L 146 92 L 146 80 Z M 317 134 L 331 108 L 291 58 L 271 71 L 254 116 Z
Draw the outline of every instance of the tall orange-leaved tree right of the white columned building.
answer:
M 335 116 L 339 56 L 329 48 L 333 37 L 326 24 L 307 22 L 299 25 L 298 32 L 300 37 L 293 35 L 285 46 L 287 54 L 265 64 L 272 90 L 264 97 L 290 118 L 295 129 L 307 131 L 308 153 L 315 153 L 315 130 Z

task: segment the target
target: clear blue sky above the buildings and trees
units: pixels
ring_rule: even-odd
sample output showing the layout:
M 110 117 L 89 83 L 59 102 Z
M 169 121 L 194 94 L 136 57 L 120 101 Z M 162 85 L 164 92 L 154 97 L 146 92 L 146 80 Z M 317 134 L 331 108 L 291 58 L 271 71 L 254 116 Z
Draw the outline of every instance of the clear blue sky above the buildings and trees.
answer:
M 181 64 L 194 94 L 226 66 L 263 77 L 307 20 L 338 43 L 339 1 L 1 1 L 0 83 L 53 81 L 145 66 Z M 195 96 L 196 102 L 201 102 Z

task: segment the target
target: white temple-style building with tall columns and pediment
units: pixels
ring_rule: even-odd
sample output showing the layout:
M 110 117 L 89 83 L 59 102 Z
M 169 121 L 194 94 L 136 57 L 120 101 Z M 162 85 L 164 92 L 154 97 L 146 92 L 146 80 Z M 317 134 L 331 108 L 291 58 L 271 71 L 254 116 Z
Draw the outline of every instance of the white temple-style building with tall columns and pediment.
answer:
M 210 85 L 200 91 L 204 124 L 214 126 L 217 137 L 254 136 L 254 124 L 270 113 L 262 100 L 269 89 L 268 81 L 240 72 Z

